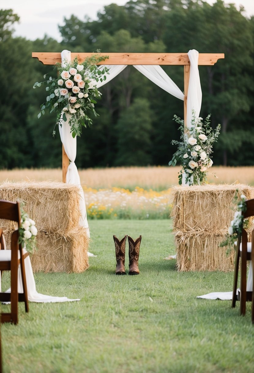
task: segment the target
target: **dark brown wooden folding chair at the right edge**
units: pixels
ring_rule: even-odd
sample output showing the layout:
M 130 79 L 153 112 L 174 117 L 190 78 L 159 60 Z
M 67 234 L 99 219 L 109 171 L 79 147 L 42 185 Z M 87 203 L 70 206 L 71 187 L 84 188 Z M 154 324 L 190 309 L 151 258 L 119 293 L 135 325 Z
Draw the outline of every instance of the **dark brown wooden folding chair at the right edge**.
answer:
M 246 201 L 247 210 L 242 212 L 244 218 L 254 216 L 254 199 Z M 237 243 L 235 244 L 235 275 L 233 286 L 232 307 L 235 307 L 237 300 L 237 281 L 239 270 L 239 259 L 241 258 L 240 269 L 240 314 L 245 315 L 246 301 L 252 301 L 252 322 L 254 323 L 254 292 L 247 291 L 247 261 L 251 261 L 252 269 L 254 269 L 254 229 L 252 231 L 251 242 L 248 242 L 248 235 L 245 229 L 239 234 Z M 252 272 L 254 274 L 254 272 Z M 254 276 L 253 276 L 254 277 Z M 254 283 L 254 281 L 252 281 Z

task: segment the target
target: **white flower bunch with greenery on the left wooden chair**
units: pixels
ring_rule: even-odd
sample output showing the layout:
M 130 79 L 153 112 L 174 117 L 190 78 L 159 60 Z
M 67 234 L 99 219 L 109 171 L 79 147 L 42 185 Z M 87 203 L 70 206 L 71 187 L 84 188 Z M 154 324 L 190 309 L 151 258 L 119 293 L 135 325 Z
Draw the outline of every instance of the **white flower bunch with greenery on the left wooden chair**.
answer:
M 38 233 L 34 220 L 30 219 L 20 205 L 21 226 L 19 228 L 19 244 L 29 253 L 36 249 L 36 235 Z

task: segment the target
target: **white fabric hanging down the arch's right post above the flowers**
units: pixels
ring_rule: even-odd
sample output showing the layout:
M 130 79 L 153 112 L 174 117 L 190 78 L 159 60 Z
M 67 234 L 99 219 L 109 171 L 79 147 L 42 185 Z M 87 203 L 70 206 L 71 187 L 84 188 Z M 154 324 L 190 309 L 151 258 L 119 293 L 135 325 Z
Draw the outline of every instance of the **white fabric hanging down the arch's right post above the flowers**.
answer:
M 188 51 L 190 59 L 190 80 L 187 94 L 187 127 L 191 127 L 192 111 L 194 110 L 196 117 L 199 117 L 202 91 L 199 78 L 199 52 L 195 49 Z

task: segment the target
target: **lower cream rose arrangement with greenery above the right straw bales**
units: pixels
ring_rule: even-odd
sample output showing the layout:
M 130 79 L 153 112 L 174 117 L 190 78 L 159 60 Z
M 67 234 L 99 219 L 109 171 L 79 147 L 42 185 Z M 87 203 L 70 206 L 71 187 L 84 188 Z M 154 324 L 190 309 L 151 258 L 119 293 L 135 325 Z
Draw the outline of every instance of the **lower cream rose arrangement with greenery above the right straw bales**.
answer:
M 220 133 L 220 124 L 215 131 L 210 127 L 210 115 L 204 121 L 203 118 L 196 117 L 193 112 L 191 127 L 186 128 L 184 121 L 174 115 L 174 120 L 180 124 L 181 141 L 172 140 L 172 144 L 178 145 L 169 166 L 175 166 L 177 161 L 181 163 L 182 169 L 179 173 L 179 184 L 182 184 L 183 174 L 187 185 L 204 184 L 209 169 L 213 161 L 211 159 L 212 144 L 217 141 Z

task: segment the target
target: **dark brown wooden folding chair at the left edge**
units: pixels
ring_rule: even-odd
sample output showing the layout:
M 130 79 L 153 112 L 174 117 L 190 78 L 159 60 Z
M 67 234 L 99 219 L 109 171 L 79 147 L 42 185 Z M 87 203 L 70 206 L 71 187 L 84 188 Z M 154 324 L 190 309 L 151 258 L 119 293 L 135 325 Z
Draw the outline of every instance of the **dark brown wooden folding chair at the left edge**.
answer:
M 18 223 L 20 228 L 19 202 L 0 200 L 0 219 L 12 220 Z M 19 230 L 15 230 L 11 236 L 11 250 L 3 250 L 3 231 L 0 229 L 0 271 L 10 270 L 10 293 L 0 292 L 0 301 L 10 302 L 10 313 L 1 313 L 1 322 L 18 323 L 18 302 L 25 302 L 25 310 L 28 312 L 28 297 L 26 289 L 26 275 L 24 259 L 29 253 L 23 253 L 19 240 Z M 18 267 L 20 264 L 23 293 L 18 293 Z M 2 272 L 1 272 L 2 274 Z

